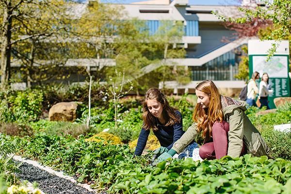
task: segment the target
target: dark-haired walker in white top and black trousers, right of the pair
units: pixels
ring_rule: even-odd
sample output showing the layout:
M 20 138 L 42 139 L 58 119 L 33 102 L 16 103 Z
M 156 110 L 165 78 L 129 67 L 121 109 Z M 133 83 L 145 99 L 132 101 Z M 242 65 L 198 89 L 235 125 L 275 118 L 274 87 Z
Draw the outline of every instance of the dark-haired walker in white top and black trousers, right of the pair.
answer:
M 267 73 L 264 73 L 261 81 L 259 82 L 259 102 L 261 103 L 259 108 L 266 106 L 267 109 L 270 109 L 268 96 L 271 93 L 273 93 L 273 90 L 271 90 L 269 86 L 269 76 Z

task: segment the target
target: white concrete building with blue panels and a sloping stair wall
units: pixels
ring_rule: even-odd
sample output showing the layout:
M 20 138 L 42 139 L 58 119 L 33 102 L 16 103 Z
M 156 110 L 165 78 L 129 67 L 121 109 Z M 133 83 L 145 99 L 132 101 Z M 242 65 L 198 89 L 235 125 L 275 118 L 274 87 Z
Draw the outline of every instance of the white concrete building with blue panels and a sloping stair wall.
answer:
M 243 3 L 247 5 L 245 0 Z M 145 20 L 151 34 L 157 32 L 163 21 L 182 21 L 184 24 L 184 35 L 179 46 L 186 49 L 186 56 L 168 61 L 191 69 L 192 82 L 179 85 L 176 81 L 167 81 L 160 83 L 160 87 L 173 88 L 177 93 L 178 89 L 186 92 L 193 89 L 201 80 L 213 80 L 222 88 L 240 89 L 245 84 L 234 76 L 238 73 L 242 54 L 240 48 L 249 38 L 235 37 L 235 32 L 226 29 L 222 20 L 213 14 L 218 12 L 234 16 L 238 12 L 237 6 L 189 5 L 188 0 L 148 0 L 122 5 L 128 12 L 127 19 Z M 145 68 L 145 73 L 157 67 Z

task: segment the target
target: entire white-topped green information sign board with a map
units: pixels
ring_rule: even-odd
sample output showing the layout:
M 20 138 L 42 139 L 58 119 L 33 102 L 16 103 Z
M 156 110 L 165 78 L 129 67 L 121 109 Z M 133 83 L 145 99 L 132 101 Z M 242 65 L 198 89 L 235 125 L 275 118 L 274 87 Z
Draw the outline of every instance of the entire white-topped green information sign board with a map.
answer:
M 267 61 L 269 49 L 273 44 L 278 47 L 274 56 Z M 248 55 L 249 55 L 249 77 L 252 77 L 253 72 L 258 71 L 260 78 L 263 73 L 269 75 L 269 85 L 273 90 L 269 94 L 268 100 L 270 108 L 276 108 L 274 104 L 275 97 L 290 97 L 290 77 L 289 77 L 289 40 L 249 40 Z M 260 80 L 257 80 L 259 87 Z

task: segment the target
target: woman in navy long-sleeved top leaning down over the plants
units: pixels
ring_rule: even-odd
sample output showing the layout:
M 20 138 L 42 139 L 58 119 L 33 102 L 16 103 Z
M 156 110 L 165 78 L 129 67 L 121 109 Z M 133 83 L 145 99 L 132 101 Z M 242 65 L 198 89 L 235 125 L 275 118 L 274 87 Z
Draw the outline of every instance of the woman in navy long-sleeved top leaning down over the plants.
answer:
M 143 110 L 144 124 L 134 154 L 140 156 L 143 153 L 152 129 L 161 144 L 161 147 L 154 152 L 159 156 L 170 150 L 183 135 L 182 115 L 169 105 L 165 95 L 157 88 L 150 88 L 146 92 Z

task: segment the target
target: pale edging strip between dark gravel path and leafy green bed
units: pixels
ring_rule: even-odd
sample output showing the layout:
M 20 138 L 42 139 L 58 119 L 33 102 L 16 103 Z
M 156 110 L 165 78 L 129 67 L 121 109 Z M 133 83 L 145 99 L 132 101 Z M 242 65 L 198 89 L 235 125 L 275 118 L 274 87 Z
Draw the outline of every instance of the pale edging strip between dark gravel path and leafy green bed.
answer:
M 69 180 L 69 181 L 77 184 L 78 186 L 87 189 L 88 191 L 92 191 L 92 192 L 97 193 L 97 190 L 96 189 L 91 189 L 90 188 L 90 185 L 78 183 L 77 180 L 75 180 L 75 178 L 70 177 L 68 175 L 64 175 L 64 173 L 62 171 L 55 171 L 55 170 L 53 170 L 52 168 L 50 168 L 48 166 L 43 166 L 42 164 L 40 164 L 37 161 L 32 161 L 32 160 L 24 159 L 21 156 L 17 156 L 17 155 L 15 155 L 13 157 L 13 159 L 16 160 L 16 161 L 19 161 L 19 162 L 26 162 L 26 163 L 32 164 L 33 166 L 38 167 L 38 168 L 40 168 L 42 170 L 45 170 L 45 171 L 47 171 L 48 173 L 50 173 L 52 175 L 55 175 L 55 176 L 60 177 L 60 178 L 65 178 L 65 179 L 67 179 L 67 180 Z

